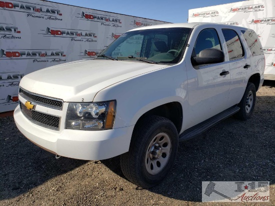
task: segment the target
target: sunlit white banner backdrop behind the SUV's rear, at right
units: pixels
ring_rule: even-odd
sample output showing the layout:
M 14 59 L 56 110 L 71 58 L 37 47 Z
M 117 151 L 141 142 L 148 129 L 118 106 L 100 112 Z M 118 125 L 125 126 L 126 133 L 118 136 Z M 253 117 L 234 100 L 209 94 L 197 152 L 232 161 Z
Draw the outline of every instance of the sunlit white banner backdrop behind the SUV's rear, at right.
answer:
M 188 22 L 226 23 L 253 29 L 264 51 L 264 78 L 275 80 L 275 0 L 246 0 L 190 9 Z

